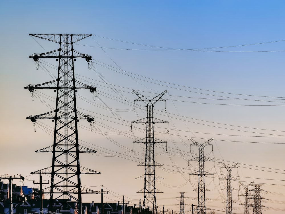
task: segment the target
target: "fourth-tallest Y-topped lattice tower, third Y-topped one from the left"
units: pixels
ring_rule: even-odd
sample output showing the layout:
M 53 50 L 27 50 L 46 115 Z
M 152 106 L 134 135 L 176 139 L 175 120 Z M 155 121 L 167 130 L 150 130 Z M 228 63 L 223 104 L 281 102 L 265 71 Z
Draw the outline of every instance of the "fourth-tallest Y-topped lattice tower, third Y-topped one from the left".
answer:
M 226 211 L 227 211 L 227 214 L 233 214 L 233 210 L 236 210 L 236 209 L 233 208 L 233 201 L 232 201 L 231 192 L 232 192 L 233 190 L 237 190 L 237 189 L 231 188 L 231 180 L 236 180 L 237 178 L 231 177 L 231 170 L 232 170 L 233 168 L 237 168 L 236 165 L 237 165 L 239 162 L 237 162 L 237 163 L 235 163 L 235 164 L 233 164 L 233 165 L 231 165 L 231 166 L 227 166 L 227 165 L 225 165 L 225 164 L 222 163 L 222 162 L 220 162 L 220 163 L 223 165 L 221 168 L 224 167 L 224 168 L 226 168 L 227 171 L 228 171 L 228 176 L 222 178 L 222 179 L 226 179 L 226 180 L 227 180 L 227 188 L 221 189 L 221 190 L 227 190 L 227 201 L 224 201 L 224 203 L 225 203 L 225 202 L 227 203 L 227 207 L 226 207 L 225 209 L 223 209 L 223 210 L 226 210 Z M 234 203 L 235 203 L 235 202 L 234 202 Z

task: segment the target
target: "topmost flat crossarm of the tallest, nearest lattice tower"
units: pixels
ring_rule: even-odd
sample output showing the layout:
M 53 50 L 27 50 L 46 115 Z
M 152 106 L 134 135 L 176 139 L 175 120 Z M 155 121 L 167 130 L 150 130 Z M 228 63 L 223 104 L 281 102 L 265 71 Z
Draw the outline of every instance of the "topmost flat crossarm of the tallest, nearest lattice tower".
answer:
M 61 43 L 62 36 L 72 37 L 72 41 L 69 39 L 69 43 L 76 43 L 82 39 L 92 36 L 92 34 L 29 34 L 30 36 L 38 37 L 55 43 Z

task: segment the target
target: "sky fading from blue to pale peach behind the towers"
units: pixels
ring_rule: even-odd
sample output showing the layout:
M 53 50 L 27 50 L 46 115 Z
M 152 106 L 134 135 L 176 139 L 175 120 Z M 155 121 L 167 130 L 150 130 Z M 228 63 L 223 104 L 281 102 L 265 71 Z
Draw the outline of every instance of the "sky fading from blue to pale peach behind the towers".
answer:
M 239 162 L 232 175 L 241 182 L 263 184 L 262 213 L 285 211 L 284 179 L 284 1 L 0 1 L 1 62 L 1 174 L 26 177 L 34 186 L 38 175 L 30 172 L 51 165 L 51 154 L 35 150 L 52 145 L 51 121 L 38 121 L 37 131 L 25 119 L 55 106 L 54 92 L 38 90 L 35 100 L 24 89 L 29 84 L 53 80 L 52 59 L 42 59 L 39 70 L 28 58 L 33 53 L 57 49 L 31 34 L 92 34 L 75 45 L 93 58 L 75 64 L 76 78 L 98 89 L 78 92 L 78 110 L 95 117 L 90 131 L 80 122 L 80 143 L 98 152 L 80 157 L 81 165 L 100 175 L 82 176 L 82 185 L 100 191 L 108 202 L 130 204 L 143 200 L 144 174 L 137 166 L 144 159 L 144 145 L 133 141 L 145 136 L 144 127 L 131 121 L 144 118 L 144 105 L 135 105 L 139 93 L 154 97 L 164 90 L 165 104 L 155 105 L 155 117 L 169 121 L 157 124 L 156 145 L 158 210 L 179 211 L 176 197 L 185 192 L 185 204 L 195 204 L 198 170 L 197 147 L 210 138 L 205 156 L 205 179 L 211 201 L 206 206 L 224 213 L 227 173 L 223 162 Z M 49 71 L 50 73 L 46 72 Z M 48 105 L 51 106 L 48 107 Z M 108 108 L 106 108 L 106 106 Z M 141 109 L 142 108 L 142 109 Z M 118 120 L 116 118 L 120 117 Z M 45 129 L 45 128 L 47 129 Z M 52 128 L 51 128 L 52 129 Z M 48 180 L 46 176 L 44 179 Z M 190 181 L 189 181 L 190 179 Z M 114 182 L 115 181 L 115 182 Z M 234 213 L 243 213 L 243 188 L 233 181 Z M 266 192 L 267 191 L 267 192 Z M 49 197 L 48 195 L 46 197 Z M 100 201 L 99 195 L 84 195 L 84 202 Z M 185 206 L 185 210 L 190 206 Z M 267 210 L 266 210 L 267 209 Z M 252 208 L 250 213 L 252 213 Z

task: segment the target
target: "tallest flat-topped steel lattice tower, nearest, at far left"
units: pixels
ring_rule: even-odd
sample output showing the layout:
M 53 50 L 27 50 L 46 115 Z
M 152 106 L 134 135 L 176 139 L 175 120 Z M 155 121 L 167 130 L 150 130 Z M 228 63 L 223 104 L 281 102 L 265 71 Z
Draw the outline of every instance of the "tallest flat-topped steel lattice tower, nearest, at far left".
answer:
M 58 75 L 56 80 L 25 87 L 32 95 L 35 89 L 54 89 L 54 92 L 56 92 L 55 110 L 27 117 L 27 119 L 30 119 L 34 123 L 38 119 L 52 119 L 54 121 L 53 145 L 36 151 L 52 152 L 52 166 L 31 173 L 42 172 L 51 174 L 49 211 L 53 211 L 52 205 L 54 199 L 63 198 L 66 200 L 73 199 L 77 202 L 76 211 L 81 214 L 82 193 L 93 193 L 92 190 L 81 187 L 81 175 L 99 174 L 99 172 L 80 166 L 79 153 L 96 151 L 79 146 L 77 128 L 79 120 L 87 119 L 91 123 L 94 121 L 94 118 L 78 112 L 76 92 L 78 89 L 89 89 L 90 92 L 94 93 L 96 88 L 75 80 L 74 61 L 76 61 L 76 58 L 85 58 L 87 62 L 91 63 L 91 56 L 75 51 L 73 45 L 91 35 L 30 35 L 59 44 L 59 48 L 54 51 L 29 56 L 34 59 L 37 67 L 39 58 L 56 58 L 56 61 L 58 61 Z

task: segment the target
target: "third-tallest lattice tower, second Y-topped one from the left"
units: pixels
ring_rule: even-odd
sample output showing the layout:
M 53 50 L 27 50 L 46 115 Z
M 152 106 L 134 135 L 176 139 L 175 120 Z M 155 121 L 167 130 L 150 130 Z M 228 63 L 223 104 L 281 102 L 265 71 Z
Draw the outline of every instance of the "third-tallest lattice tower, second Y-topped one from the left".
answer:
M 207 160 L 208 161 L 211 160 L 209 158 L 204 157 L 204 148 L 208 145 L 212 145 L 210 144 L 210 142 L 214 140 L 214 138 L 208 140 L 207 142 L 203 144 L 197 143 L 192 138 L 189 138 L 189 140 L 193 142 L 193 144 L 191 144 L 190 146 L 195 145 L 199 148 L 199 158 L 191 159 L 193 161 L 199 161 L 199 171 L 191 173 L 191 175 L 198 175 L 198 188 L 194 189 L 196 191 L 198 190 L 198 197 L 192 200 L 198 200 L 197 214 L 205 214 L 206 213 L 206 200 L 209 200 L 205 197 L 205 191 L 208 191 L 208 189 L 205 189 L 205 175 L 212 175 L 212 174 L 209 172 L 205 172 L 205 169 L 204 169 L 204 162 Z

